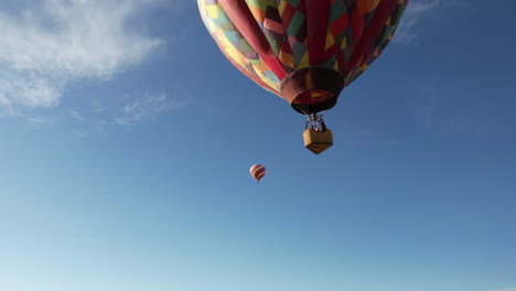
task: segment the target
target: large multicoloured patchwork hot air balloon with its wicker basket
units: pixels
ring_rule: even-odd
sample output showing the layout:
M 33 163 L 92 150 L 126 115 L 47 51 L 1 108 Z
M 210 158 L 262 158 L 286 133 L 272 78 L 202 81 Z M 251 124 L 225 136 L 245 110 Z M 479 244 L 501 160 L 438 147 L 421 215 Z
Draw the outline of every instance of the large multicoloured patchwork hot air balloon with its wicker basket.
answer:
M 241 73 L 308 116 L 305 147 L 333 144 L 321 111 L 380 55 L 409 0 L 197 0 Z

